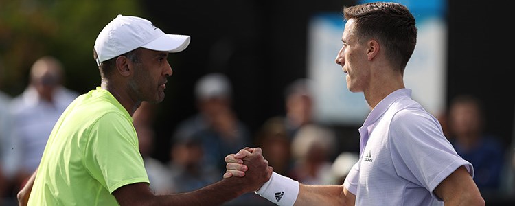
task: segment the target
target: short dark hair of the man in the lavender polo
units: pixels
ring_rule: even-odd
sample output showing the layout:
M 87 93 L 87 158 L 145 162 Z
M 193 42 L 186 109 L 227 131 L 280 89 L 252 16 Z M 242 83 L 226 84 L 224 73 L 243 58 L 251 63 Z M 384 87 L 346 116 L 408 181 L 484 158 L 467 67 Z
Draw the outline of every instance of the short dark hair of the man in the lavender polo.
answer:
M 417 44 L 415 18 L 408 8 L 392 2 L 365 3 L 343 8 L 343 15 L 355 20 L 360 40 L 376 38 L 390 62 L 404 73 Z

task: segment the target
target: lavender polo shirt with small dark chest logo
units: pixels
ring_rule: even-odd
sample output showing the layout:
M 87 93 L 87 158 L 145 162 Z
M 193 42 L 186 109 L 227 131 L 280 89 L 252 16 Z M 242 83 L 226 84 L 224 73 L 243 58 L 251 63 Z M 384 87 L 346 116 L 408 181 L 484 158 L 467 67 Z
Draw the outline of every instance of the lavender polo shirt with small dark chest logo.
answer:
M 379 102 L 359 132 L 360 159 L 343 183 L 356 205 L 443 205 L 433 194 L 439 183 L 461 165 L 474 176 L 411 89 Z

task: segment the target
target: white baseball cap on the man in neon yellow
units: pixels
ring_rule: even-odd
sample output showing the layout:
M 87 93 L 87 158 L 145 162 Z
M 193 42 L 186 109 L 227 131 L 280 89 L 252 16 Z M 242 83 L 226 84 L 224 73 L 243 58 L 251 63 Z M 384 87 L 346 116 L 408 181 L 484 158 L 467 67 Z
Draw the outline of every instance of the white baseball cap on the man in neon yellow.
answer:
M 119 14 L 108 23 L 95 41 L 97 65 L 139 47 L 155 51 L 181 52 L 190 44 L 190 36 L 165 34 L 152 22 L 137 16 Z

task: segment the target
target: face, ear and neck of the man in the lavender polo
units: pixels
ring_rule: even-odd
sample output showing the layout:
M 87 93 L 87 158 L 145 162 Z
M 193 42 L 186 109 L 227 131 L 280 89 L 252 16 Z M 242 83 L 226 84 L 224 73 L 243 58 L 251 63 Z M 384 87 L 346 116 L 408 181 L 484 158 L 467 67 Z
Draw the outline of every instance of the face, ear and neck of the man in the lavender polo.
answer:
M 354 19 L 345 23 L 343 46 L 335 62 L 347 73 L 347 89 L 363 92 L 369 107 L 374 108 L 387 95 L 404 88 L 403 73 L 390 64 L 379 41 L 365 36 L 359 39 L 355 26 Z

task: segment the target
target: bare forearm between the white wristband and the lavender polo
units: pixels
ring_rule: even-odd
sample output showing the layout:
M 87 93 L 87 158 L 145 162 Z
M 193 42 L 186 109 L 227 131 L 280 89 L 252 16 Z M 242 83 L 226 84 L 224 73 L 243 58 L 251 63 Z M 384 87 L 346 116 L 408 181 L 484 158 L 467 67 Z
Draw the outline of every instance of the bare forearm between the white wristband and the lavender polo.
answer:
M 344 191 L 343 185 L 301 184 L 295 205 L 354 205 L 354 201 L 354 194 Z

